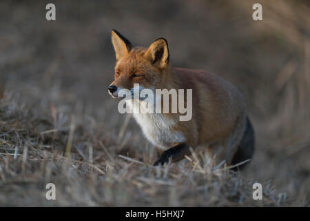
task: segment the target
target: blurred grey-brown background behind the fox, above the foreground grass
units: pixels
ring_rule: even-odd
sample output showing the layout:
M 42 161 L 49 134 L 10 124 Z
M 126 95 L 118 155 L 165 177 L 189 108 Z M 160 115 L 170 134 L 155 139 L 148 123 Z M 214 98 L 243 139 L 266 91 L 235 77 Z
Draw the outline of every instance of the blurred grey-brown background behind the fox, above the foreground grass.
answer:
M 56 21 L 46 21 L 47 3 L 0 1 L 0 96 L 31 112 L 25 124 L 52 121 L 55 109 L 72 114 L 92 133 L 80 140 L 100 137 L 118 146 L 111 151 L 143 161 L 151 144 L 107 94 L 115 64 L 110 30 L 134 46 L 165 37 L 172 66 L 216 73 L 245 95 L 256 153 L 242 175 L 271 181 L 309 206 L 309 1 L 52 1 Z M 262 21 L 252 19 L 254 3 L 262 4 Z M 67 121 L 54 126 L 68 130 Z

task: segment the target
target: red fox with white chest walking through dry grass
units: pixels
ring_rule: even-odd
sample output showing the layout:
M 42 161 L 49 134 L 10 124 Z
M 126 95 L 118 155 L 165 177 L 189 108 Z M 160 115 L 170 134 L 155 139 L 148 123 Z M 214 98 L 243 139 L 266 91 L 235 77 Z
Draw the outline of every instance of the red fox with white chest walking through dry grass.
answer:
M 130 41 L 112 30 L 112 44 L 116 66 L 108 93 L 113 98 L 119 98 L 118 93 L 124 88 L 132 92 L 134 84 L 151 90 L 192 89 L 189 121 L 180 121 L 179 112 L 133 114 L 147 140 L 163 150 L 154 166 L 169 159 L 178 162 L 192 154 L 190 147 L 197 146 L 205 146 L 209 157 L 216 155 L 217 162 L 225 160 L 227 165 L 251 159 L 254 130 L 242 94 L 235 86 L 204 70 L 172 68 L 164 38 L 156 39 L 149 48 L 133 48 Z M 185 96 L 185 99 L 189 104 L 191 98 Z M 130 99 L 130 102 L 142 104 L 143 100 Z

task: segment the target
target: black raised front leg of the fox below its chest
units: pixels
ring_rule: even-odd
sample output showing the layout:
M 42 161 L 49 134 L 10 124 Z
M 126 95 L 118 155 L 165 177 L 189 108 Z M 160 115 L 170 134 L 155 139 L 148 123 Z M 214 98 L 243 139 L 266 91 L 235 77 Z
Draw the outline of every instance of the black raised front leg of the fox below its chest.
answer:
M 172 148 L 169 148 L 167 151 L 164 151 L 159 157 L 158 160 L 154 163 L 154 166 L 158 164 L 165 164 L 169 162 L 169 159 L 172 159 L 172 162 L 178 162 L 182 160 L 185 155 L 191 155 L 191 151 L 189 151 L 189 145 L 187 143 L 176 144 Z

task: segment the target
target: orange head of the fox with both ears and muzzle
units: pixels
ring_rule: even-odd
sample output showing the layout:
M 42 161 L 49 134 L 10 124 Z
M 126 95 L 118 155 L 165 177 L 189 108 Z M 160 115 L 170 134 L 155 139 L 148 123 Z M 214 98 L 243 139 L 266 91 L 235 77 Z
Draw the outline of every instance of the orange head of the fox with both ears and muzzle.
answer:
M 138 90 L 161 88 L 169 69 L 167 41 L 156 39 L 149 48 L 132 48 L 130 41 L 116 30 L 112 30 L 112 44 L 116 55 L 114 81 L 108 87 L 113 98 L 119 98 L 122 89 L 133 93 L 134 84 Z

